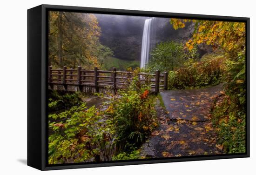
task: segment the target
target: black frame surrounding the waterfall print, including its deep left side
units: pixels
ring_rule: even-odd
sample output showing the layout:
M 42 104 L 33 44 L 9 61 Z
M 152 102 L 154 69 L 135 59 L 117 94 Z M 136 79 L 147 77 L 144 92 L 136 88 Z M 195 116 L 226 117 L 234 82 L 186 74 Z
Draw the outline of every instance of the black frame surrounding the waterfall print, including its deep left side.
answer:
M 102 163 L 47 164 L 47 32 L 48 11 L 105 13 L 246 23 L 246 153 L 157 158 Z M 186 13 L 149 12 L 92 7 L 40 5 L 27 10 L 27 165 L 40 170 L 89 168 L 164 162 L 184 162 L 249 157 L 249 18 Z

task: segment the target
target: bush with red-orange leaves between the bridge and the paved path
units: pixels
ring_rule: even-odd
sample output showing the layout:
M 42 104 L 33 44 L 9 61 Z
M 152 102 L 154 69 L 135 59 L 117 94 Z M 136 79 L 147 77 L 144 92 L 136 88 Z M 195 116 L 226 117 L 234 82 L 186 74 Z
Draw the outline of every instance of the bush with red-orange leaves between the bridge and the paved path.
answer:
M 135 73 L 131 85 L 120 89 L 112 98 L 108 110 L 113 112 L 120 143 L 129 141 L 139 145 L 157 126 L 155 98 L 149 95 L 149 89 Z

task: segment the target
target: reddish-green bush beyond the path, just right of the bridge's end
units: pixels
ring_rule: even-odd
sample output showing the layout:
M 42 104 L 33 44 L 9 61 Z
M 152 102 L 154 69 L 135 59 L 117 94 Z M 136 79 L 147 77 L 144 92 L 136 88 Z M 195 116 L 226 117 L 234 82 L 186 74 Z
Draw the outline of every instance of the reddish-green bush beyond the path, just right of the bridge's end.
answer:
M 182 67 L 169 71 L 169 89 L 201 88 L 220 83 L 224 75 L 224 56 L 207 54 L 200 61 L 189 59 Z

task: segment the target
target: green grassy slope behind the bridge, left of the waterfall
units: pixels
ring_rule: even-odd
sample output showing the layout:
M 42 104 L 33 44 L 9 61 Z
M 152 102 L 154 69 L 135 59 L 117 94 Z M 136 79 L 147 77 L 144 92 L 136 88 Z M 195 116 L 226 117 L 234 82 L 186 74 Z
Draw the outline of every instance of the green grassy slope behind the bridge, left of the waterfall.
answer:
M 106 70 L 116 67 L 117 70 L 125 71 L 128 67 L 140 67 L 140 61 L 126 61 L 109 56 L 104 60 L 102 67 Z

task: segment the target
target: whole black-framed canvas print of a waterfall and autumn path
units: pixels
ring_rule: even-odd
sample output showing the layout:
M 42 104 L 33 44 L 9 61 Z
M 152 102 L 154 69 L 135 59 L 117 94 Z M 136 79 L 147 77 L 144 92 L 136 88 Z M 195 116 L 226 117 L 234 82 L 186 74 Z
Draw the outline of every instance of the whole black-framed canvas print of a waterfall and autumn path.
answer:
M 249 157 L 249 18 L 27 11 L 27 164 Z

